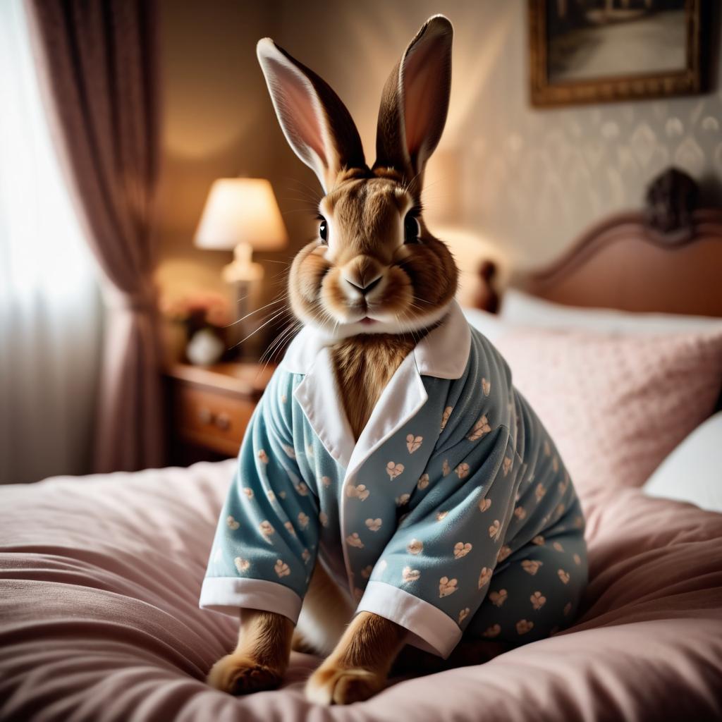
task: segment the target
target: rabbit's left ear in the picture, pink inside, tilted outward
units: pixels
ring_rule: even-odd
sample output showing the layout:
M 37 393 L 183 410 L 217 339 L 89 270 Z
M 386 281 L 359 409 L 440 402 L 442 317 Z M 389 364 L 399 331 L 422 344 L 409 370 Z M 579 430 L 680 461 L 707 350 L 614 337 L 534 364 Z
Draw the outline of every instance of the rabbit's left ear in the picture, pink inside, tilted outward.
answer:
M 366 168 L 354 121 L 329 84 L 271 38 L 258 40 L 256 53 L 283 133 L 324 191 L 344 168 Z

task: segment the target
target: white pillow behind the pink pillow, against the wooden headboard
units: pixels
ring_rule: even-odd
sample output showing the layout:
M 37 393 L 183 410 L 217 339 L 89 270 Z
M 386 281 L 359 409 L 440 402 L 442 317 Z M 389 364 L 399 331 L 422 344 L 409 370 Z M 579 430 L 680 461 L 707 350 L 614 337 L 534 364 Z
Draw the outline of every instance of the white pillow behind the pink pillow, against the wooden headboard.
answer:
M 722 329 L 722 318 L 681 316 L 671 313 L 632 313 L 608 308 L 565 306 L 541 300 L 515 288 L 504 292 L 500 318 L 513 326 L 585 329 L 608 334 L 645 336 Z

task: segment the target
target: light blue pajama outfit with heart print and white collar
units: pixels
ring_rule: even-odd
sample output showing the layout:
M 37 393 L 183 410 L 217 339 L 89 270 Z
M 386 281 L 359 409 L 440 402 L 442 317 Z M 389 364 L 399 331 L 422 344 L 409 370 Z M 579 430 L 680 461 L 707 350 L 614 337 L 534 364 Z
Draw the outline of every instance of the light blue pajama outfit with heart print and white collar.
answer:
M 388 383 L 357 443 L 329 339 L 304 329 L 251 419 L 201 606 L 297 620 L 316 557 L 357 602 L 448 656 L 571 622 L 584 521 L 508 366 L 451 305 Z

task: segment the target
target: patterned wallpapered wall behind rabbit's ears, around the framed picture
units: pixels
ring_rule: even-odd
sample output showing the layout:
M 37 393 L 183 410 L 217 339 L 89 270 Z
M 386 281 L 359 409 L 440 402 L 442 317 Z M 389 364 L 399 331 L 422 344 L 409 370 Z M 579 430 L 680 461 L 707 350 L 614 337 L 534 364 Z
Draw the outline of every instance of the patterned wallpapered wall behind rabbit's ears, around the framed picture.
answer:
M 671 163 L 722 178 L 719 91 L 532 109 L 526 0 L 308 0 L 303 17 L 292 0 L 280 6 L 274 36 L 339 92 L 367 150 L 388 72 L 427 17 L 448 15 L 451 108 L 427 172 L 427 215 L 483 235 L 516 266 L 545 264 L 591 222 L 640 206 L 646 183 Z M 286 175 L 298 176 L 290 161 Z

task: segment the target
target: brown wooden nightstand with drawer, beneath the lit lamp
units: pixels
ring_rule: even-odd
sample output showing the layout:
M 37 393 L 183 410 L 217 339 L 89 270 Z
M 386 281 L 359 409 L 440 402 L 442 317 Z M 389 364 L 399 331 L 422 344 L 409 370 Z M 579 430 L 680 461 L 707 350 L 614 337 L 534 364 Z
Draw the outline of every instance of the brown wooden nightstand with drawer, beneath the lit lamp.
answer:
M 236 456 L 253 409 L 274 367 L 256 363 L 193 366 L 165 372 L 170 464 Z

